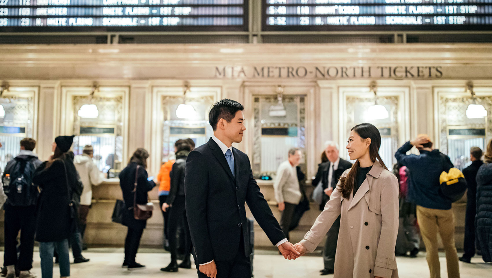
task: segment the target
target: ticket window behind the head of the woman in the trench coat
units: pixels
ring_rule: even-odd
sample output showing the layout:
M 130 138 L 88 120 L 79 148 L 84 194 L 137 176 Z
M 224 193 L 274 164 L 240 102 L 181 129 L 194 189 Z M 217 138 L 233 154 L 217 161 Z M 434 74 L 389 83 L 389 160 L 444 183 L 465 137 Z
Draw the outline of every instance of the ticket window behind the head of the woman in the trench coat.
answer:
M 341 114 L 343 120 L 340 126 L 340 146 L 346 145 L 350 130 L 357 124 L 374 124 L 381 134 L 381 147 L 379 155 L 384 164 L 391 168 L 397 163 L 395 153 L 398 151 L 401 142 L 408 140 L 408 131 L 403 127 L 402 115 L 406 108 L 403 105 L 406 89 L 402 88 L 379 88 L 377 91 L 377 102 L 373 92 L 368 92 L 366 88 L 346 88 L 341 90 L 342 99 L 340 107 L 344 107 L 345 113 Z M 373 106 L 377 104 L 383 106 L 383 112 L 374 113 Z M 381 108 L 382 109 L 382 108 Z M 376 111 L 377 112 L 377 111 Z M 376 116 L 376 114 L 378 114 Z M 340 157 L 349 159 L 346 151 L 340 151 Z

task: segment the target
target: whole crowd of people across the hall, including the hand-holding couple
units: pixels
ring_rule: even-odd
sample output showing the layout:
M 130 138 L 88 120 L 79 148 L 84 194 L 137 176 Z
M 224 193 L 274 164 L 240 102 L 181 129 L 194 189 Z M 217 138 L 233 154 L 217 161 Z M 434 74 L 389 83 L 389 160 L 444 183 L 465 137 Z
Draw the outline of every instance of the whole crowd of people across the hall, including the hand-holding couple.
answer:
M 312 200 L 322 212 L 304 239 L 292 244 L 289 231 L 309 206 L 306 179 L 299 167 L 303 154 L 299 148 L 290 149 L 277 169 L 278 223 L 253 178 L 249 158 L 232 147 L 242 141 L 246 130 L 243 110 L 234 100 L 216 102 L 209 113 L 214 136 L 196 149 L 192 139 L 176 141 L 175 157 L 161 165 L 155 182 L 147 173 L 149 153 L 139 148 L 132 154 L 119 175 L 124 202 L 121 223 L 127 227 L 123 268 L 145 267 L 136 262 L 136 254 L 152 215 L 148 192 L 155 186 L 164 222 L 164 248 L 171 253 L 163 272 L 190 269 L 193 255 L 200 278 L 251 277 L 252 242 L 245 203 L 286 259 L 313 252 L 326 237 L 321 275 L 396 278 L 396 256 L 417 256 L 422 238 L 431 278 L 439 278 L 438 234 L 448 277 L 459 278 L 458 261 L 470 263 L 476 251 L 484 261 L 492 261 L 492 140 L 485 154 L 479 147 L 471 148 L 472 163 L 462 172 L 467 207 L 461 258 L 455 244 L 453 200 L 441 189 L 442 174 L 454 168 L 449 157 L 421 134 L 400 147 L 395 154 L 398 163 L 390 171 L 379 156 L 381 135 L 368 123 L 350 131 L 346 150 L 353 164 L 340 158 L 338 143 L 325 143 L 322 163 L 312 180 Z M 70 246 L 74 263 L 89 261 L 82 252 L 92 186 L 101 184 L 104 176 L 92 161 L 92 146 L 85 146 L 80 155 L 70 151 L 73 137 L 56 137 L 53 155 L 44 162 L 33 153 L 36 142 L 25 138 L 20 153 L 3 171 L 2 276 L 6 278 L 36 277 L 31 272 L 34 241 L 39 242 L 42 278 L 53 277 L 54 257 L 61 277 L 70 276 Z M 414 147 L 419 154 L 407 154 Z

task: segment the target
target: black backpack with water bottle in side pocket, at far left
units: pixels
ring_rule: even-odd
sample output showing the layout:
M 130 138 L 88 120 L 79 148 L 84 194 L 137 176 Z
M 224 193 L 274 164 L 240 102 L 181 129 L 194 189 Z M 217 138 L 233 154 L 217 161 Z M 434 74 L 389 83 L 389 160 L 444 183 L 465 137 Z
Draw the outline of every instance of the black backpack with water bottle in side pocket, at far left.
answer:
M 6 177 L 3 177 L 3 190 L 7 195 L 7 203 L 17 207 L 35 205 L 38 190 L 32 184 L 32 176 L 34 175 L 34 170 L 36 170 L 34 163 L 18 158 L 15 158 L 15 160 L 9 171 L 9 185 L 5 185 Z

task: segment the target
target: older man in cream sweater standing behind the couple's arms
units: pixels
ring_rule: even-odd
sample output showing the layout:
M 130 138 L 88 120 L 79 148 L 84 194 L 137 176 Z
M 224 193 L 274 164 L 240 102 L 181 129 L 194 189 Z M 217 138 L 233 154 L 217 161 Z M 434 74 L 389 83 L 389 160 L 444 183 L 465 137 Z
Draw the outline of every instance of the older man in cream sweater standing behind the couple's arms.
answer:
M 296 171 L 297 165 L 301 162 L 301 155 L 299 148 L 290 149 L 289 158 L 278 166 L 274 182 L 278 210 L 282 212 L 280 227 L 287 240 L 289 240 L 289 226 L 294 210 L 301 201 L 302 196 Z

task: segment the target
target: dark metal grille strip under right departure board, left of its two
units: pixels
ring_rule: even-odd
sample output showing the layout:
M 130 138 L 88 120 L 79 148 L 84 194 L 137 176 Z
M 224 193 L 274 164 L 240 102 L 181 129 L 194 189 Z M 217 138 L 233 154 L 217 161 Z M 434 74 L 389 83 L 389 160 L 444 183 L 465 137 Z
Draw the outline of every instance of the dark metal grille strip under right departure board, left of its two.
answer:
M 348 35 L 348 34 L 329 34 L 329 35 L 263 35 L 263 43 L 393 43 L 393 34 L 389 35 Z

